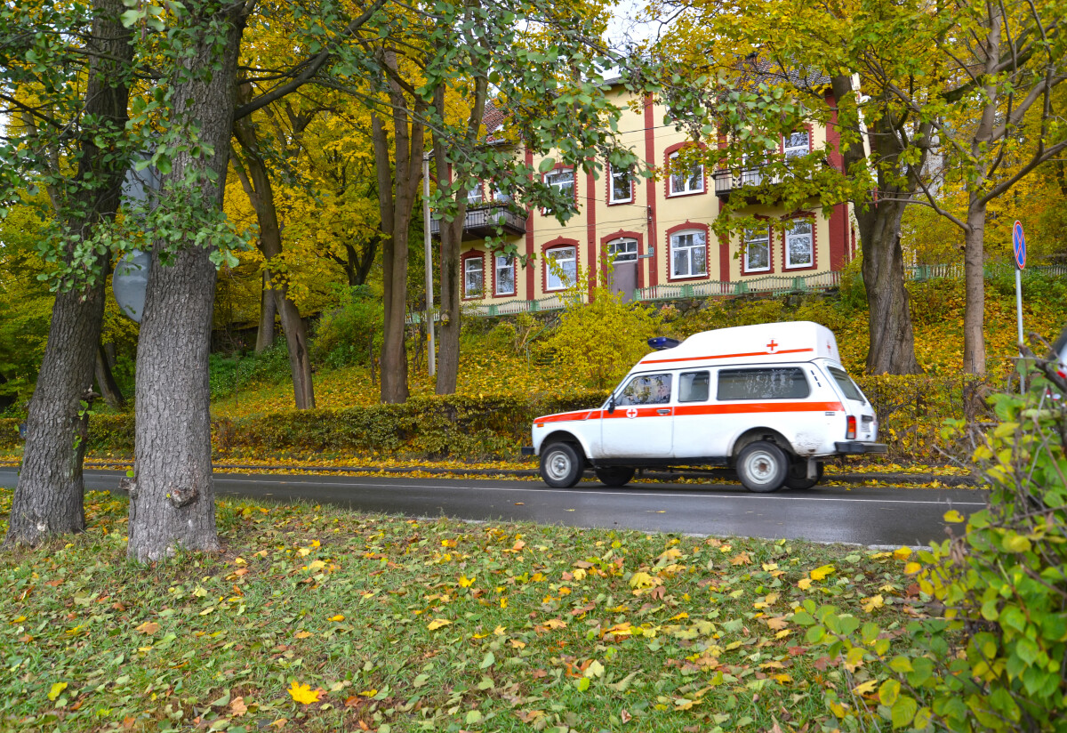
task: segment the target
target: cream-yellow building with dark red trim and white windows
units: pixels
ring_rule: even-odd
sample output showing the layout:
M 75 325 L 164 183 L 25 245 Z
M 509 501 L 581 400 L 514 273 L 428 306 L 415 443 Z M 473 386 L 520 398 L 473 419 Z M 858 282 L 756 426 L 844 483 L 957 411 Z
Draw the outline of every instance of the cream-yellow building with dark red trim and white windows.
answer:
M 651 97 L 636 109 L 623 113 L 620 139 L 649 168 L 667 171 L 673 156 L 697 144 L 664 124 L 665 109 Z M 500 122 L 487 118 L 490 133 Z M 832 127 L 809 126 L 784 138 L 779 154 L 822 149 L 828 132 L 835 150 Z M 529 150 L 525 157 L 538 170 L 540 158 Z M 829 159 L 830 164 L 841 165 L 837 153 Z M 710 227 L 722 203 L 743 195 L 738 191 L 745 185 L 761 182 L 759 169 L 736 175 L 695 165 L 646 179 L 605 166 L 598 179 L 580 168 L 557 165 L 543 174 L 543 180 L 574 196 L 578 212 L 566 224 L 543 210 L 516 213 L 509 209 L 506 194 L 491 185 L 471 191 L 461 262 L 462 294 L 468 304 L 491 314 L 557 307 L 570 285 L 568 275 L 573 277 L 579 269 L 596 272 L 626 299 L 640 300 L 827 287 L 838 283 L 838 271 L 856 249 L 845 204 L 832 207 L 828 217 L 817 205 L 789 212 L 752 206 L 746 211 L 766 217 L 766 229 L 747 235 L 744 242 L 739 235 L 732 240 L 716 238 Z M 487 251 L 484 238 L 497 223 L 509 243 L 534 256 L 529 265 Z M 550 268 L 548 261 L 559 268 Z

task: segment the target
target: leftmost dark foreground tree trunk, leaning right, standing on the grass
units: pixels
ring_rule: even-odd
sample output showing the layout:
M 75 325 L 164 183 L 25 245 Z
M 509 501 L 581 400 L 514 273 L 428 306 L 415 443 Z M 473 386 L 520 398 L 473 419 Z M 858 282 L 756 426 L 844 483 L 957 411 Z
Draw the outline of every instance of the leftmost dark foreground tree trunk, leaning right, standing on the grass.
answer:
M 132 34 L 118 20 L 122 2 L 96 0 L 94 10 L 93 44 L 99 53 L 90 61 L 84 118 L 96 118 L 98 127 L 84 131 L 78 179 L 85 186 L 74 196 L 92 213 L 66 218 L 71 240 L 90 236 L 97 223 L 114 218 L 126 172 L 122 156 L 112 157 L 95 140 L 102 128 L 117 134 L 126 125 L 129 87 L 125 79 L 133 59 Z M 71 256 L 69 249 L 66 256 Z M 99 272 L 107 261 L 107 255 L 98 257 Z M 89 416 L 82 401 L 93 386 L 105 286 L 101 275 L 91 287 L 60 292 L 52 305 L 48 344 L 26 423 L 22 465 L 4 538 L 7 545 L 37 544 L 49 535 L 85 527 L 82 459 Z

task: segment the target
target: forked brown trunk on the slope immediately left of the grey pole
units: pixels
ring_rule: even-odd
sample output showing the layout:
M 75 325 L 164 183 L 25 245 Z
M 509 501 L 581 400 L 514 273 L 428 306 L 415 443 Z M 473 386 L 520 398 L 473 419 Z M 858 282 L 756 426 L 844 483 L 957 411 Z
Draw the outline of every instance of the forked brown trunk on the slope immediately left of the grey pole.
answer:
M 408 400 L 408 351 L 404 344 L 408 316 L 409 230 L 421 181 L 423 124 L 425 105 L 415 101 L 412 110 L 402 87 L 396 81 L 396 52 L 383 51 L 388 75 L 389 103 L 393 108 L 393 150 L 395 166 L 389 164 L 389 140 L 385 124 L 371 114 L 371 139 L 378 173 L 378 205 L 382 221 L 382 271 L 384 285 L 384 328 L 382 333 L 382 402 Z M 409 119 L 411 121 L 409 127 Z M 391 175 L 392 174 L 392 175 Z

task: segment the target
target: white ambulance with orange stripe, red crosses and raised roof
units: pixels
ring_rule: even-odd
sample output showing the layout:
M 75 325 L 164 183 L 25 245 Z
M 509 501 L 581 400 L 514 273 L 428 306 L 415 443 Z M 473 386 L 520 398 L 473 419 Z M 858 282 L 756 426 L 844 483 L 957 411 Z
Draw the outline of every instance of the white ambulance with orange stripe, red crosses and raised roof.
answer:
M 541 477 L 573 487 L 587 467 L 609 487 L 637 468 L 726 466 L 747 489 L 807 489 L 835 456 L 883 453 L 874 409 L 829 329 L 763 323 L 651 339 L 600 408 L 534 420 Z

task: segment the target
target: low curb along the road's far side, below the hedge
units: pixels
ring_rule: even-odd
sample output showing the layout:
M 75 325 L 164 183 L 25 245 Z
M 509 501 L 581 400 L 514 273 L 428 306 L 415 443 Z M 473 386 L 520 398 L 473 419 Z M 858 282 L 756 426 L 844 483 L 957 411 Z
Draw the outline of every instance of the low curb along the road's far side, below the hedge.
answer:
M 128 463 L 85 463 L 86 468 L 127 468 Z M 419 472 L 432 476 L 512 476 L 515 478 L 532 478 L 539 475 L 536 468 L 453 468 L 436 466 L 291 466 L 276 464 L 255 464 L 243 465 L 235 463 L 216 463 L 212 467 L 228 471 L 288 471 L 306 474 L 410 474 Z M 586 472 L 591 476 L 592 472 Z M 721 480 L 736 481 L 737 478 L 732 471 L 727 468 L 712 469 L 701 473 L 685 471 L 644 471 L 639 474 L 639 478 L 654 481 L 676 481 L 680 479 L 692 480 L 701 478 L 718 478 Z M 892 485 L 914 485 L 938 482 L 942 487 L 974 489 L 978 483 L 972 476 L 938 476 L 933 473 L 906 474 L 906 473 L 871 473 L 871 474 L 827 474 L 824 482 L 856 483 L 862 484 L 870 481 Z

